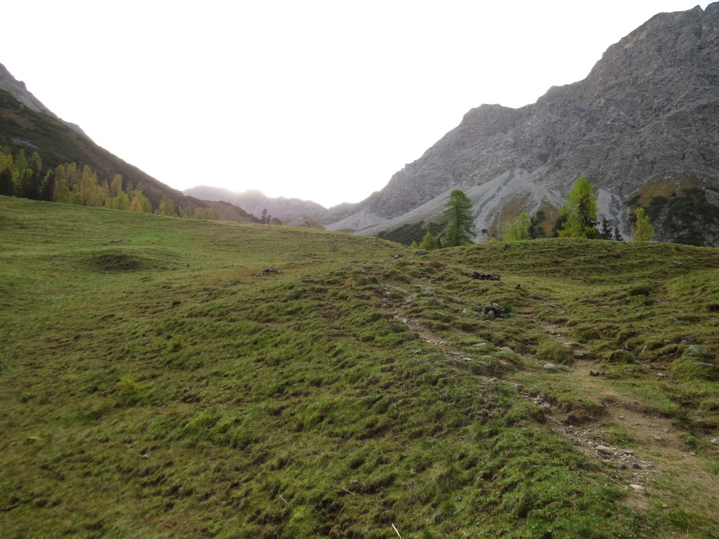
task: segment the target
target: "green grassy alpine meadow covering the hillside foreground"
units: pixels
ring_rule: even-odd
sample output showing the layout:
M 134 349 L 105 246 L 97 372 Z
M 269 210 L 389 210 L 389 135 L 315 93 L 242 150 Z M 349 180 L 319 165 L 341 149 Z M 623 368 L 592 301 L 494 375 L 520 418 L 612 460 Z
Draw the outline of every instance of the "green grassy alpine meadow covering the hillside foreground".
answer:
M 712 249 L 0 197 L 0 535 L 716 537 L 718 312 Z

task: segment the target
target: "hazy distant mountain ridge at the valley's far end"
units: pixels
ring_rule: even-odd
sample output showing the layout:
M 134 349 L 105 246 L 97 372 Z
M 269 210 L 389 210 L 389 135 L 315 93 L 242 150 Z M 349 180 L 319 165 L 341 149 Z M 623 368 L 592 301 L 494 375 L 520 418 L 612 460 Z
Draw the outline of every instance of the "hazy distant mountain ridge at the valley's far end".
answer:
M 293 219 L 298 216 L 321 218 L 327 213 L 327 208 L 316 202 L 302 201 L 299 198 L 270 198 L 257 190 L 247 190 L 237 193 L 228 189 L 198 185 L 183 191 L 188 196 L 201 198 L 203 201 L 225 201 L 233 203 L 254 216 L 262 215 L 267 210 L 270 216 L 278 219 Z

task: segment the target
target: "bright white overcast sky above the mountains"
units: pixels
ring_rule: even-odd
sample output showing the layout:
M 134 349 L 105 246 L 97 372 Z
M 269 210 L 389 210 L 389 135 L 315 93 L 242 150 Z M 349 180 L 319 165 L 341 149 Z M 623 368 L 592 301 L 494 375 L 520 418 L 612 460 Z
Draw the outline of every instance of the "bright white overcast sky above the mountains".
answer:
M 707 1 L 698 5 L 703 8 Z M 12 1 L 0 63 L 176 189 L 359 202 L 482 103 L 585 78 L 697 0 Z

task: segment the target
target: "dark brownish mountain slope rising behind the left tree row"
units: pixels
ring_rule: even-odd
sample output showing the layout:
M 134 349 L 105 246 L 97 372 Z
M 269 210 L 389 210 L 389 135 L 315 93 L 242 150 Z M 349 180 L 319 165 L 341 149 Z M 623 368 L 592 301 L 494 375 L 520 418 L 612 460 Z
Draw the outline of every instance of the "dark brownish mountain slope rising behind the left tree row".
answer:
M 0 147 L 17 152 L 24 149 L 27 155 L 37 152 L 46 167 L 75 162 L 89 165 L 101 178 L 122 175 L 124 185 L 142 185 L 153 207 L 168 196 L 175 206 L 203 208 L 207 205 L 180 191 L 170 188 L 139 168 L 95 144 L 80 127 L 63 121 L 47 109 L 27 90 L 25 83 L 16 80 L 0 64 Z

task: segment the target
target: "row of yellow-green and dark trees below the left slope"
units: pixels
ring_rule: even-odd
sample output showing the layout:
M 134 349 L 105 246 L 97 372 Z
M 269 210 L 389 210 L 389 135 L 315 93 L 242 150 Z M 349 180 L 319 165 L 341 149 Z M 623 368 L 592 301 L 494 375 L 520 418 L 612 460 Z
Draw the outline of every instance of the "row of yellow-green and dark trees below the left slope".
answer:
M 6 148 L 0 149 L 0 195 L 163 216 L 217 218 L 212 208 L 175 208 L 175 201 L 168 196 L 163 196 L 157 208 L 153 208 L 142 193 L 142 185 L 126 183 L 122 175 L 100 180 L 92 167 L 81 168 L 74 162 L 45 168 L 37 152 L 27 157 L 24 149 L 15 155 Z

